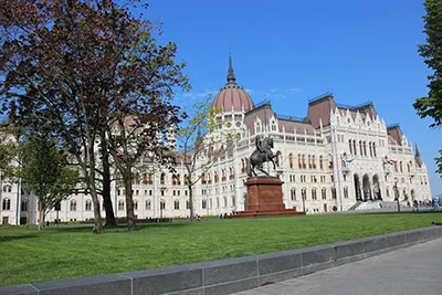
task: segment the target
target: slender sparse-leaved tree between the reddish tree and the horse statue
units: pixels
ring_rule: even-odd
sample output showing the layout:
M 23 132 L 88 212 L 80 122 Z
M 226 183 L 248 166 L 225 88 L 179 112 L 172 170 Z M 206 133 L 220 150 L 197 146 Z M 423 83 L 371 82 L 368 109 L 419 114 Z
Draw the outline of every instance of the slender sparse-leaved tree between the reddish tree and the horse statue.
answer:
M 182 151 L 186 182 L 189 189 L 190 220 L 193 220 L 193 186 L 218 162 L 220 157 L 232 152 L 239 139 L 238 129 L 228 129 L 211 106 L 212 97 L 192 105 L 193 114 L 176 131 L 178 148 Z

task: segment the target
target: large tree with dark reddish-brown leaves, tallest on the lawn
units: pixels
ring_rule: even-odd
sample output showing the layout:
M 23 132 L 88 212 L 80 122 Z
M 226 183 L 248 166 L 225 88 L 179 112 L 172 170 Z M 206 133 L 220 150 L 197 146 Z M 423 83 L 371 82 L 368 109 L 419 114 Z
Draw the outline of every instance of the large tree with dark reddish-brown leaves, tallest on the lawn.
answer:
M 28 128 L 50 123 L 51 135 L 74 155 L 93 199 L 94 232 L 103 232 L 97 187 L 99 135 L 107 133 L 116 118 L 138 117 L 152 102 L 154 106 L 168 104 L 175 87 L 187 85 L 181 74 L 185 64 L 173 62 L 176 45 L 156 45 L 152 34 L 159 28 L 136 19 L 116 2 L 0 3 L 3 110 L 11 112 L 14 105 L 17 119 Z M 168 76 L 171 72 L 177 74 Z

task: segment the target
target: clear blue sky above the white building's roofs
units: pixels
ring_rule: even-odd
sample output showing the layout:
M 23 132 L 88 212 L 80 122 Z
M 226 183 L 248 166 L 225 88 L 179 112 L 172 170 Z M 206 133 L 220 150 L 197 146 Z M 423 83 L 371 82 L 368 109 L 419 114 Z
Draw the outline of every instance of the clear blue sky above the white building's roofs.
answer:
M 229 46 L 236 82 L 254 103 L 306 116 L 308 99 L 333 92 L 346 105 L 373 102 L 388 125 L 399 123 L 428 166 L 433 194 L 442 193 L 433 158 L 440 129 L 429 129 L 412 107 L 428 94 L 429 70 L 417 52 L 424 42 L 419 0 L 150 0 L 144 12 L 164 22 L 160 42 L 178 44 L 186 61 L 190 105 L 225 84 Z

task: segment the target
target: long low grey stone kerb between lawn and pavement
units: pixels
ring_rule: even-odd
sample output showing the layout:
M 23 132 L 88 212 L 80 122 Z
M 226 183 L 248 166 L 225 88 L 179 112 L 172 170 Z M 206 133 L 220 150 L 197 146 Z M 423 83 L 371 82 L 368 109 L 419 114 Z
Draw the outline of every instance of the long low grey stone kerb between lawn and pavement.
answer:
M 442 226 L 167 268 L 14 285 L 3 294 L 230 294 L 442 238 Z

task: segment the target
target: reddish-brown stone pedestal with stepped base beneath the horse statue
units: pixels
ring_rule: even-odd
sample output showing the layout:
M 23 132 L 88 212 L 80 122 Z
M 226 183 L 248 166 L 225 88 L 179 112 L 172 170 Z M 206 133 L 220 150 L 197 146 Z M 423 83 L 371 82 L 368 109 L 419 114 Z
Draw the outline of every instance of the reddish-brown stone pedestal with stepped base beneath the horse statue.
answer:
M 285 209 L 283 181 L 277 177 L 250 177 L 248 186 L 248 210 L 239 211 L 234 218 L 303 215 L 295 209 Z

